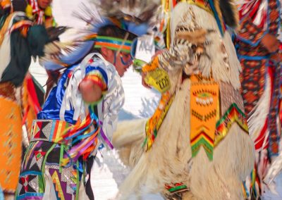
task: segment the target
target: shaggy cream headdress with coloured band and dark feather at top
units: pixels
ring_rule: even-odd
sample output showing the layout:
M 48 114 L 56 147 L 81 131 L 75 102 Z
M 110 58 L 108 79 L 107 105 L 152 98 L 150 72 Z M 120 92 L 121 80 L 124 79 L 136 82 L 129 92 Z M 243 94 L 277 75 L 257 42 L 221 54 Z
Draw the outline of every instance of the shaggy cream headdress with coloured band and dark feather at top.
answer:
M 240 87 L 238 77 L 241 67 L 231 37 L 228 32 L 224 32 L 226 23 L 230 26 L 237 23 L 237 14 L 231 14 L 231 18 L 227 20 L 226 18 L 228 16 L 224 14 L 225 17 L 223 17 L 223 13 L 226 13 L 228 9 L 222 11 L 220 8 L 225 4 L 220 4 L 221 1 L 216 1 L 218 4 L 214 4 L 214 2 L 210 0 L 188 0 L 188 3 L 179 3 L 173 9 L 171 18 L 171 46 L 172 49 L 176 50 L 171 49 L 173 54 L 164 56 L 164 61 L 179 58 L 179 56 L 173 56 L 176 52 L 177 54 L 182 52 L 179 49 L 182 46 L 180 35 L 184 33 L 186 35 L 188 34 L 188 36 L 192 37 L 188 39 L 188 42 L 191 43 L 189 44 L 190 46 L 194 44 L 196 46 L 202 46 L 204 49 L 197 65 L 202 75 L 204 77 L 210 77 L 212 75 L 214 80 L 229 82 L 235 89 L 238 89 Z M 235 6 L 233 1 L 228 1 L 227 3 L 229 9 L 231 9 L 231 6 Z M 220 11 L 217 11 L 216 7 Z M 235 10 L 233 11 L 235 12 Z M 203 32 L 204 42 L 197 44 L 196 39 L 201 36 L 199 33 L 200 30 Z M 183 56 L 187 56 L 185 52 L 187 51 L 183 51 Z M 196 58 L 198 58 L 197 55 Z M 183 68 L 183 65 L 180 67 Z

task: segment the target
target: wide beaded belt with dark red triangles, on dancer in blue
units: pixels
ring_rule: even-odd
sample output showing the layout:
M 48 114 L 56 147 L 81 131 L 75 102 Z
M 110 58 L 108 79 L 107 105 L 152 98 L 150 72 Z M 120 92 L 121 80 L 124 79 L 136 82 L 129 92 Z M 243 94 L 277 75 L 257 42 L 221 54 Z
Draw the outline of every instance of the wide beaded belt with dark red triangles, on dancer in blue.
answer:
M 64 141 L 59 142 L 59 139 L 63 132 L 70 126 L 70 123 L 61 120 L 33 120 L 30 142 L 47 141 L 65 144 L 66 142 Z

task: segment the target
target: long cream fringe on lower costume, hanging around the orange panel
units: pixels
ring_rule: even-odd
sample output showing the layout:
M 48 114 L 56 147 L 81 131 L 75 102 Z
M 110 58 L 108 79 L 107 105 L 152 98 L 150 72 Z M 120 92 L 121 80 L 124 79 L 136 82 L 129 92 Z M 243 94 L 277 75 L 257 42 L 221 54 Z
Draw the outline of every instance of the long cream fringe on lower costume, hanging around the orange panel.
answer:
M 214 161 L 209 161 L 203 150 L 191 158 L 189 87 L 190 80 L 185 80 L 152 149 L 142 154 L 123 182 L 121 199 L 127 199 L 144 186 L 146 192 L 166 194 L 164 185 L 171 182 L 183 182 L 195 199 L 243 198 L 241 183 L 255 162 L 253 142 L 238 125 L 233 125 L 214 149 Z

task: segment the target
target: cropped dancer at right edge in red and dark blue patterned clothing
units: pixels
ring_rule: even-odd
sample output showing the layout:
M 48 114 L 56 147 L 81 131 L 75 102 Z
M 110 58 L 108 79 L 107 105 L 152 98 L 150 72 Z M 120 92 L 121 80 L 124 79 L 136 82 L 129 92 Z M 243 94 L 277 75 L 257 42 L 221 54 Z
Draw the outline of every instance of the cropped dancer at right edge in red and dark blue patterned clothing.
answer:
M 274 179 L 264 178 L 277 168 L 281 134 L 281 2 L 245 0 L 240 6 L 240 30 L 236 35 L 238 58 L 243 68 L 240 80 L 250 136 L 255 142 L 256 170 L 252 194 L 259 197 Z M 276 162 L 275 162 L 276 161 Z M 272 170 L 271 170 L 272 171 Z M 276 170 L 276 175 L 278 170 Z

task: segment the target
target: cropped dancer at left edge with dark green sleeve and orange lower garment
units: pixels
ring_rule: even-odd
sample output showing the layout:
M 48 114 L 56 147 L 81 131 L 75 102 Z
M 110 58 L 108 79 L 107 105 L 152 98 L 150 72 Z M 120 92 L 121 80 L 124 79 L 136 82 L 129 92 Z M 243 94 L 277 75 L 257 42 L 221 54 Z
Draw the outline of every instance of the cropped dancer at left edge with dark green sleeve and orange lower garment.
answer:
M 13 197 L 20 174 L 22 124 L 16 87 L 23 80 L 32 56 L 43 56 L 51 39 L 42 25 L 33 25 L 22 8 L 25 1 L 0 1 L 0 187 Z

